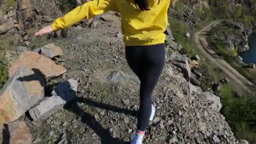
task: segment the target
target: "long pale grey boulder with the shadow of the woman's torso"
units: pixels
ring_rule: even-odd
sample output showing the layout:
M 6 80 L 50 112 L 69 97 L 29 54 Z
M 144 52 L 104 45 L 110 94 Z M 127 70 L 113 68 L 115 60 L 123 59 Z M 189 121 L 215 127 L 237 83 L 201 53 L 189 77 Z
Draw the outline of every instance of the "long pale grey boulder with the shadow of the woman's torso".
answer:
M 29 114 L 33 120 L 45 120 L 69 101 L 75 99 L 77 85 L 78 82 L 76 80 L 67 80 L 59 83 L 52 92 L 53 96 L 45 97 L 37 106 L 29 109 Z

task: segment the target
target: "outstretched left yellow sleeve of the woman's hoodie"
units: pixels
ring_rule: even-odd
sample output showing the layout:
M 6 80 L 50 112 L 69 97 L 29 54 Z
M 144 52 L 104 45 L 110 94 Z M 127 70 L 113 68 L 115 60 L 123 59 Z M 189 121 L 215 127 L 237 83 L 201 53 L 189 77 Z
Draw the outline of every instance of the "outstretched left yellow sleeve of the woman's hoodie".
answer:
M 93 0 L 81 5 L 65 16 L 56 19 L 51 27 L 53 30 L 65 29 L 83 19 L 90 19 L 93 16 L 105 13 L 107 11 L 116 11 L 115 0 Z

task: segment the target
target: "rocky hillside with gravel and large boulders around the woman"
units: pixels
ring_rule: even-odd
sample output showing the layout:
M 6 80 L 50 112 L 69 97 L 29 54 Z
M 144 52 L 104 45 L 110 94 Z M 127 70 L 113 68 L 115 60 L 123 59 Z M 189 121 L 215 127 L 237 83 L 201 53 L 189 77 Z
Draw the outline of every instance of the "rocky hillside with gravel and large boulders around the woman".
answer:
M 35 38 L 32 32 L 64 11 L 57 1 L 41 2 L 18 0 L 17 8 L 5 8 L 0 18 L 1 38 L 19 45 L 5 51 L 11 62 L 0 91 L 0 142 L 129 141 L 136 129 L 139 80 L 126 64 L 120 14 Z M 200 58 L 181 55 L 181 48 L 168 37 L 166 64 L 153 93 L 157 112 L 144 143 L 248 144 L 235 138 L 219 113 L 219 97 L 195 86 L 202 74 L 191 69 Z

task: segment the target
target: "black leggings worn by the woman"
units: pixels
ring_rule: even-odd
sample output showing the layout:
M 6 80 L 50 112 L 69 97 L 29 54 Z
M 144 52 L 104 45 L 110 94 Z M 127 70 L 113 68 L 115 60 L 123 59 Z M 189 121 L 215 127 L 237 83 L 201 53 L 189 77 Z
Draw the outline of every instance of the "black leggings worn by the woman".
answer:
M 137 130 L 146 131 L 151 114 L 151 94 L 165 63 L 165 45 L 126 46 L 125 56 L 141 81 Z

